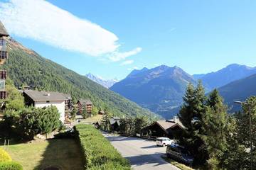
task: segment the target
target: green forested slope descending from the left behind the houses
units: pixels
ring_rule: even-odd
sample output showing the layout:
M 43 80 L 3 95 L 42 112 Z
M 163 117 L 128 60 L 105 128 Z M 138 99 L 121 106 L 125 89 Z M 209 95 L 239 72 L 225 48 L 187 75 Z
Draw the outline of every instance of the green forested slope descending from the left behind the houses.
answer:
M 7 39 L 9 58 L 4 64 L 16 87 L 28 85 L 38 90 L 68 93 L 77 100 L 90 98 L 97 109 L 108 108 L 114 115 L 149 115 L 154 113 L 99 84 L 47 60 L 15 40 Z

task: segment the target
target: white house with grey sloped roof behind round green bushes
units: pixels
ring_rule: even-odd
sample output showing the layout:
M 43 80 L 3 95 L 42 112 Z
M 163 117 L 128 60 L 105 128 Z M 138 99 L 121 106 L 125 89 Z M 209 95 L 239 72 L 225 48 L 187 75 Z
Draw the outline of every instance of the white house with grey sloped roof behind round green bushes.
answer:
M 65 120 L 65 101 L 63 94 L 56 91 L 23 91 L 23 96 L 27 106 L 43 108 L 48 106 L 56 106 L 60 113 L 60 120 L 64 123 Z

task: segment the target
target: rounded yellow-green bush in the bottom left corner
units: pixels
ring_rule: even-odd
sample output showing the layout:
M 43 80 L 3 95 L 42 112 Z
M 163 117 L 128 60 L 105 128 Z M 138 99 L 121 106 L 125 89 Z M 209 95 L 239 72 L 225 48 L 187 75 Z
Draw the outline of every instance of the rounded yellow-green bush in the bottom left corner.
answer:
M 0 148 L 0 170 L 23 170 L 21 164 L 11 161 L 10 155 Z

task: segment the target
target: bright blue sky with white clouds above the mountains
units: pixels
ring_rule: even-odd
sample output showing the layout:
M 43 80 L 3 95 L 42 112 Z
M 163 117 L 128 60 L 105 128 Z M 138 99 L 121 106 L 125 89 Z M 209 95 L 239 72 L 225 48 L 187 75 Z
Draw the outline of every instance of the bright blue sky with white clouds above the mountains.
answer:
M 38 6 L 36 11 L 32 5 L 26 5 L 28 1 Z M 134 68 L 152 68 L 159 64 L 176 65 L 189 74 L 213 72 L 232 63 L 256 66 L 254 0 L 76 0 L 75 3 L 50 0 L 51 7 L 56 8 L 49 9 L 49 4 L 43 0 L 0 2 L 0 20 L 11 36 L 43 57 L 79 74 L 91 72 L 105 79 L 123 79 Z M 9 11 L 6 3 L 16 7 Z M 31 10 L 31 15 L 19 13 L 20 17 L 26 18 L 23 24 L 30 27 L 18 25 L 20 20 L 14 11 L 22 11 L 19 8 Z M 69 15 L 58 15 L 63 11 L 68 11 Z M 53 17 L 55 21 L 48 21 L 51 17 L 42 15 L 51 12 L 57 13 Z M 85 26 L 82 20 L 101 28 L 92 26 L 92 30 L 87 30 L 90 26 Z M 73 22 L 78 25 L 75 30 L 65 25 Z M 46 23 L 49 27 L 43 28 Z M 69 28 L 70 31 L 63 30 L 56 38 L 70 42 L 70 45 L 48 36 L 41 38 L 42 34 L 54 33 L 52 28 L 58 26 Z M 88 31 L 89 34 L 83 35 Z M 76 38 L 82 43 L 77 45 Z M 104 43 L 99 45 L 101 42 Z M 87 47 L 83 47 L 83 43 Z

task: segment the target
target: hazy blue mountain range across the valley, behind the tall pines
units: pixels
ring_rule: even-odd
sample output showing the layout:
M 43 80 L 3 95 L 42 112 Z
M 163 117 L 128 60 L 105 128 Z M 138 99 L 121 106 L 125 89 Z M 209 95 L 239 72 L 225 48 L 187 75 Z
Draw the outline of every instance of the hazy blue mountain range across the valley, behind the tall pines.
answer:
M 196 85 L 196 81 L 201 79 L 206 92 L 219 88 L 225 101 L 231 104 L 235 99 L 233 95 L 238 94 L 238 91 L 235 91 L 234 88 L 242 89 L 242 87 L 239 87 L 240 84 L 233 87 L 234 85 L 230 83 L 245 79 L 245 77 L 250 77 L 253 74 L 256 74 L 256 67 L 247 67 L 240 64 L 230 64 L 218 72 L 194 74 L 193 76 L 179 67 L 161 65 L 153 69 L 135 69 L 110 89 L 142 107 L 149 108 L 149 110 L 164 118 L 171 118 L 178 113 L 188 83 Z M 244 81 L 248 80 L 245 79 Z M 247 86 L 253 86 L 253 84 L 250 83 Z M 252 88 L 252 91 L 248 94 L 242 95 L 240 93 L 236 98 L 241 96 L 242 99 L 245 99 L 248 95 L 255 94 L 253 91 L 256 90 Z

